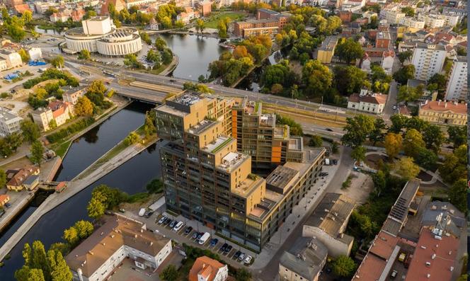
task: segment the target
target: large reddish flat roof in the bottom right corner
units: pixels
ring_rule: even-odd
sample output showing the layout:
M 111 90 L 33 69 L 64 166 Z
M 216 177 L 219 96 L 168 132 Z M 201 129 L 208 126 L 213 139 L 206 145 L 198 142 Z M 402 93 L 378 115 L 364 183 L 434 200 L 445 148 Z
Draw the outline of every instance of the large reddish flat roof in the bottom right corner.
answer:
M 458 248 L 459 239 L 454 236 L 442 236 L 439 239 L 430 229 L 423 229 L 405 280 L 452 280 Z

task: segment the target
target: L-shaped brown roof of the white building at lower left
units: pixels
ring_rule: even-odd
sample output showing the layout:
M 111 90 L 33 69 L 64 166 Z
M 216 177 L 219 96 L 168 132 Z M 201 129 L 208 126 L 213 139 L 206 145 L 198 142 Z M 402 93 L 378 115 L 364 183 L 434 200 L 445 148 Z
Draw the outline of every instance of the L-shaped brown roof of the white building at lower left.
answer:
M 71 270 L 81 268 L 83 275 L 89 277 L 123 245 L 156 256 L 168 241 L 147 231 L 141 222 L 113 216 L 76 246 L 65 260 Z

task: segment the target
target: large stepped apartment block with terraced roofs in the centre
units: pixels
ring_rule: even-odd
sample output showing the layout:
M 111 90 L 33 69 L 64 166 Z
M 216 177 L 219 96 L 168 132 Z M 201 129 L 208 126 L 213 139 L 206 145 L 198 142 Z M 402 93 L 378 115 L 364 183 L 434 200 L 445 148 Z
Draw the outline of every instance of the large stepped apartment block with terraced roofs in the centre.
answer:
M 260 251 L 316 181 L 325 149 L 304 149 L 299 162 L 286 158 L 287 162 L 277 166 L 266 180 L 254 175 L 251 156 L 237 151 L 237 139 L 241 134 L 241 147 L 251 144 L 251 137 L 243 142 L 243 136 L 249 133 L 244 129 L 264 126 L 253 120 L 238 130 L 238 113 L 244 110 L 243 105 L 246 103 L 185 91 L 155 109 L 156 130 L 159 137 L 169 141 L 160 151 L 167 209 Z M 251 117 L 241 116 L 241 122 L 243 117 Z M 272 126 L 267 127 L 270 130 Z M 257 150 L 263 146 L 270 156 L 260 159 L 272 160 L 269 142 L 254 142 L 253 149 L 248 150 L 258 161 Z M 282 163 L 282 152 L 280 159 Z

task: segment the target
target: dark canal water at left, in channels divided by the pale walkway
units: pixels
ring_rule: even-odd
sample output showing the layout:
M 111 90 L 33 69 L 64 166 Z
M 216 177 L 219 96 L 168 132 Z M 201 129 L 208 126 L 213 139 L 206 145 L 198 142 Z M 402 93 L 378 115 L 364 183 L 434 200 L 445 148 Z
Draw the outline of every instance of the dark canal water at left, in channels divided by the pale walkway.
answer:
M 93 163 L 129 132 L 137 129 L 144 123 L 145 112 L 152 105 L 134 102 L 111 116 L 90 130 L 71 145 L 64 158 L 62 168 L 57 174 L 57 180 L 69 180 L 80 173 L 89 164 Z M 96 185 L 106 184 L 119 188 L 127 193 L 139 193 L 145 190 L 145 185 L 156 176 L 160 176 L 159 146 L 161 142 L 153 144 L 125 164 L 104 176 L 96 183 L 88 186 L 67 202 L 56 207 L 42 217 L 33 228 L 10 253 L 8 260 L 4 260 L 4 267 L 0 268 L 1 281 L 13 281 L 15 270 L 23 265 L 21 251 L 24 243 L 40 240 L 46 248 L 52 243 L 62 241 L 64 229 L 67 229 L 80 219 L 88 219 L 86 205 L 91 197 L 91 191 Z M 13 234 L 22 222 L 34 212 L 36 207 L 26 208 L 16 222 L 0 234 L 0 244 L 4 243 Z

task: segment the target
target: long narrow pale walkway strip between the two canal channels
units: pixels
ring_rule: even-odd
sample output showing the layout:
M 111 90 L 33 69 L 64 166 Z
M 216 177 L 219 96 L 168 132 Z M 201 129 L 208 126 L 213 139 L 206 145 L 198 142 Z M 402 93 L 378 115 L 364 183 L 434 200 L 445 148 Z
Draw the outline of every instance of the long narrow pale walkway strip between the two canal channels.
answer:
M 115 168 L 121 166 L 126 161 L 132 159 L 132 157 L 136 156 L 140 152 L 147 149 L 151 144 L 154 144 L 156 139 L 152 142 L 148 142 L 147 144 L 135 144 L 130 147 L 126 147 L 122 150 L 119 154 L 111 158 L 109 161 L 106 161 L 101 166 L 97 167 L 91 164 L 88 168 L 93 167 L 95 168 L 93 171 L 87 171 L 88 168 L 84 170 L 84 172 L 80 173 L 74 179 L 70 180 L 67 184 L 67 189 L 64 190 L 62 193 L 53 193 L 47 199 L 42 202 L 42 204 L 36 209 L 33 214 L 28 217 L 28 219 L 23 222 L 23 224 L 18 228 L 18 230 L 4 243 L 4 245 L 0 248 L 0 260 L 4 260 L 5 256 L 10 253 L 14 246 L 23 238 L 23 236 L 28 233 L 28 231 L 34 226 L 36 222 L 47 212 L 54 209 L 55 207 L 59 206 L 63 202 L 67 201 L 72 196 L 79 193 L 81 190 L 84 190 L 88 185 L 96 182 L 106 174 L 113 171 Z M 103 156 L 105 156 L 104 154 Z M 99 159 L 98 159 L 99 160 Z M 98 161 L 97 160 L 97 161 Z M 96 163 L 96 162 L 95 162 Z M 86 176 L 81 177 L 80 175 L 84 175 L 86 172 Z

